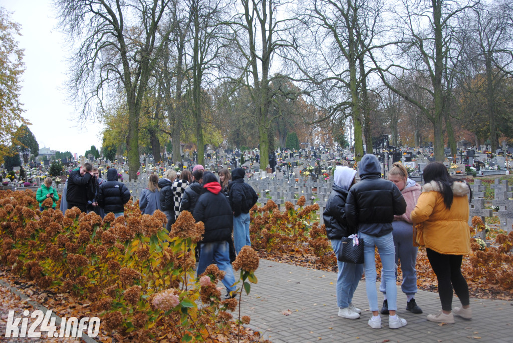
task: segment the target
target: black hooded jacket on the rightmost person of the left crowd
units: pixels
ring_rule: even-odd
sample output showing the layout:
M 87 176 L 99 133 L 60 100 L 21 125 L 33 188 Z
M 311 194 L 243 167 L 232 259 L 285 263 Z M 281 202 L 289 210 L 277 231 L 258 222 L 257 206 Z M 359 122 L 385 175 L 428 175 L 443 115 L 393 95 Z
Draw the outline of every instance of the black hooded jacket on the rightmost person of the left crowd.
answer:
M 235 217 L 241 213 L 249 213 L 254 204 L 257 204 L 258 195 L 255 190 L 244 183 L 246 171 L 242 168 L 235 168 L 231 172 L 230 184 L 230 205 Z

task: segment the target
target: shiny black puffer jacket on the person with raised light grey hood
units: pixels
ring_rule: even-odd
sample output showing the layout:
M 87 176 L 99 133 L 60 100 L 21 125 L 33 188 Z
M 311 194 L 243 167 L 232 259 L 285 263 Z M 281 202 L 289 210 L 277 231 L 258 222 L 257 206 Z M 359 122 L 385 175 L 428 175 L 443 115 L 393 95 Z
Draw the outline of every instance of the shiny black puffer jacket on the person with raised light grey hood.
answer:
M 333 190 L 329 195 L 322 215 L 328 239 L 341 239 L 356 232 L 355 228 L 347 223 L 344 209 L 346 198 L 347 191 L 337 185 L 333 185 Z

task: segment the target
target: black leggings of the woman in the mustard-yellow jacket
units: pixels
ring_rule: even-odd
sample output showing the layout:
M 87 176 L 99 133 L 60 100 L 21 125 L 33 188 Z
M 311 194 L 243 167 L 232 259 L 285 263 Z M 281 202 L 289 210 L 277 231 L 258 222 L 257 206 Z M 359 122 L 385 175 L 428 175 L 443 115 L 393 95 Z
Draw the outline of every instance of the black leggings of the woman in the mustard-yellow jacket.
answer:
M 429 248 L 426 248 L 427 258 L 437 275 L 438 294 L 442 303 L 442 310 L 452 310 L 452 289 L 460 298 L 463 306 L 469 305 L 467 281 L 461 275 L 462 255 L 439 254 Z

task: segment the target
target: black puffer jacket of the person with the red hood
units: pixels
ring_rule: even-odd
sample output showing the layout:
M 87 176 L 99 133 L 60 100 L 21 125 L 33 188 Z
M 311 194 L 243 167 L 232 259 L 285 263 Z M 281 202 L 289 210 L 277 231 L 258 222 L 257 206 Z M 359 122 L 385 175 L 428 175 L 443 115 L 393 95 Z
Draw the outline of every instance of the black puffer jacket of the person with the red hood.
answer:
M 187 189 L 189 188 L 190 186 Z M 233 213 L 223 192 L 214 194 L 205 191 L 196 203 L 193 216 L 196 221 L 203 221 L 205 224 L 202 243 L 231 240 Z

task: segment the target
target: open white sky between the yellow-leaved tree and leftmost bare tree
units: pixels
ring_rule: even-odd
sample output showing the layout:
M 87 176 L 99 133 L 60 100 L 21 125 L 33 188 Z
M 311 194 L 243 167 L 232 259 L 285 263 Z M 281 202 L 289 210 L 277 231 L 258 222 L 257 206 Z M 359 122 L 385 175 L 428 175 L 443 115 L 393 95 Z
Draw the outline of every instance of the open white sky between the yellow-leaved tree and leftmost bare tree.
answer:
M 63 90 L 70 55 L 65 42 L 69 38 L 57 29 L 52 0 L 0 0 L 11 12 L 11 20 L 21 25 L 18 47 L 25 50 L 21 103 L 32 124 L 39 147 L 83 155 L 91 145 L 100 150 L 101 124 L 76 119 L 77 111 Z

